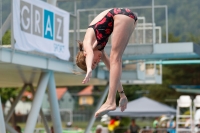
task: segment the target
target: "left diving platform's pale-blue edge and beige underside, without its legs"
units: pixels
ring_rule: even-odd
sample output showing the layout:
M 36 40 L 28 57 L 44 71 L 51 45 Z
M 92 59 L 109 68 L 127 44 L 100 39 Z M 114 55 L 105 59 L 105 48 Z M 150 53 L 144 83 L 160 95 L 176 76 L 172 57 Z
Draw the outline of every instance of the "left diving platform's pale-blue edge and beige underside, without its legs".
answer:
M 84 74 L 78 71 L 73 62 L 56 57 L 0 47 L 0 87 L 22 87 L 24 84 L 37 86 L 42 72 L 53 71 L 56 86 L 80 86 Z M 91 79 L 90 85 L 105 85 L 106 80 Z M 86 84 L 88 85 L 88 84 Z

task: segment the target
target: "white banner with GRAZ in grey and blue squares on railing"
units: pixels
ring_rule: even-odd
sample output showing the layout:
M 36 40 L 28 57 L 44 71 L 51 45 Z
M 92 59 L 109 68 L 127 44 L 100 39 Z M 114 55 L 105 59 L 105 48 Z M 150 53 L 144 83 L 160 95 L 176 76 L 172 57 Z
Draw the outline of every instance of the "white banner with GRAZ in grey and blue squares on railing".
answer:
M 68 60 L 69 13 L 39 0 L 14 0 L 15 48 Z

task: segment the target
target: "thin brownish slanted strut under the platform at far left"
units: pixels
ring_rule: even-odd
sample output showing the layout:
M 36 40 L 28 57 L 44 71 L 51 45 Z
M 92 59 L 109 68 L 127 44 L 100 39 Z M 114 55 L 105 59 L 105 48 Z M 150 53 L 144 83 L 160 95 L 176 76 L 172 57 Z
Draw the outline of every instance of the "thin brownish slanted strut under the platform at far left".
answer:
M 27 84 L 25 84 L 23 87 L 22 87 L 22 90 L 19 92 L 19 95 L 17 96 L 17 98 L 15 99 L 12 107 L 10 108 L 5 120 L 6 122 L 8 122 L 10 120 L 10 117 L 11 115 L 13 114 L 13 112 L 15 111 L 15 107 L 17 105 L 17 103 L 19 102 L 19 100 L 22 98 L 22 95 L 24 93 L 24 91 L 26 90 L 26 87 L 27 87 Z

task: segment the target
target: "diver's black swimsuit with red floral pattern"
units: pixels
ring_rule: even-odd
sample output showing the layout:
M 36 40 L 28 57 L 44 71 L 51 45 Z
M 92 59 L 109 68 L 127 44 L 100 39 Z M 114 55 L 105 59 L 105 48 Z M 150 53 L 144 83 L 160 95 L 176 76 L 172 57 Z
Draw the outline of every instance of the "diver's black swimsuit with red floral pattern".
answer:
M 97 39 L 97 45 L 101 45 L 101 48 L 99 50 L 103 50 L 104 47 L 106 46 L 109 36 L 113 32 L 113 26 L 114 26 L 113 17 L 117 14 L 126 15 L 126 16 L 134 19 L 135 22 L 137 21 L 137 16 L 133 12 L 131 12 L 130 9 L 128 9 L 128 8 L 113 8 L 105 15 L 105 17 L 103 17 L 96 24 L 90 25 L 88 28 L 94 29 L 96 39 Z

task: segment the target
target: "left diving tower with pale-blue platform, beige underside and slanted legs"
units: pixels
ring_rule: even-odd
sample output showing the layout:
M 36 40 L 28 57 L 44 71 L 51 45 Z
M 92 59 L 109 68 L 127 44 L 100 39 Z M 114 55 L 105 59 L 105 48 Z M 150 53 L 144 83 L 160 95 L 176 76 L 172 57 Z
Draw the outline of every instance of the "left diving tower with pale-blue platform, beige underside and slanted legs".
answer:
M 43 118 L 46 131 L 49 131 L 49 126 L 41 110 L 46 88 L 48 88 L 53 126 L 57 133 L 61 133 L 62 124 L 56 97 L 56 86 L 83 85 L 81 82 L 85 75 L 75 75 L 73 73 L 74 69 L 75 66 L 69 61 L 1 46 L 0 87 L 22 89 L 5 119 L 3 117 L 3 110 L 0 108 L 0 132 L 5 133 L 6 127 L 9 132 L 16 133 L 8 122 L 14 113 L 15 106 L 22 98 L 23 92 L 29 87 L 34 94 L 34 100 L 26 122 L 25 133 L 34 132 L 39 113 Z M 106 85 L 106 83 L 107 81 L 104 79 L 92 78 L 89 84 Z M 37 88 L 36 91 L 34 88 Z

